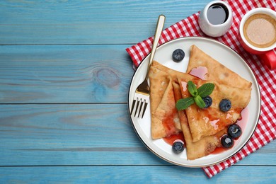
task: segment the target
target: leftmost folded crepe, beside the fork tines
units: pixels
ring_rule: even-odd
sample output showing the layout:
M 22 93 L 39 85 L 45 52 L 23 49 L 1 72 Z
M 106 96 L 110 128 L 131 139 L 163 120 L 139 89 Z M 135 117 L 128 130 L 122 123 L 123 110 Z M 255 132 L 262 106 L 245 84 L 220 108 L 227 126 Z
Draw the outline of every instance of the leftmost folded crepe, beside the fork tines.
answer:
M 187 79 L 195 79 L 194 76 L 169 69 L 159 62 L 151 63 L 149 82 L 152 139 L 170 137 L 182 131 L 172 82 L 183 75 Z

